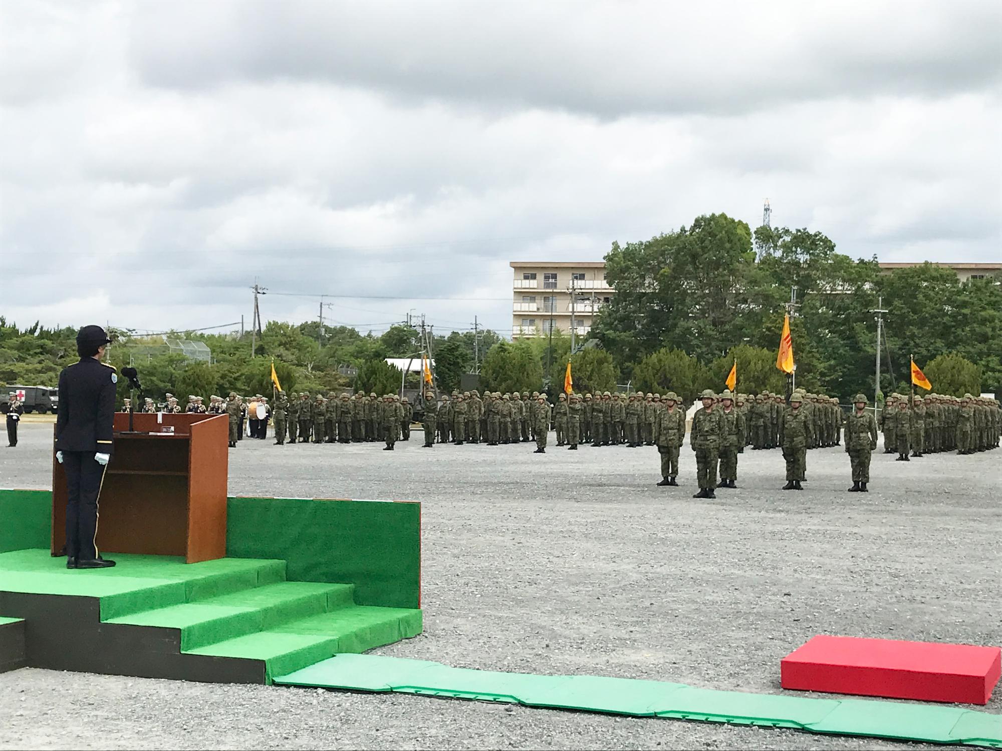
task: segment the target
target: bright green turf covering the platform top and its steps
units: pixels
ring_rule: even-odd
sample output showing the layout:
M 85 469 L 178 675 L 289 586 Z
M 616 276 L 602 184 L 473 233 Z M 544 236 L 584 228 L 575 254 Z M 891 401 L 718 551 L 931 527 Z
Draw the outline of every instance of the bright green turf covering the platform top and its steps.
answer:
M 422 629 L 420 610 L 357 605 L 354 585 L 288 582 L 285 561 L 185 564 L 126 554 L 115 560 L 112 569 L 67 570 L 65 559 L 48 550 L 0 554 L 0 616 L 5 592 L 95 598 L 104 624 L 174 632 L 181 654 L 261 661 L 266 682 Z M 141 661 L 143 650 L 136 654 Z

